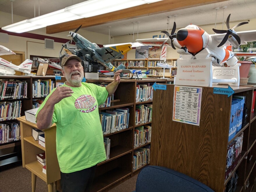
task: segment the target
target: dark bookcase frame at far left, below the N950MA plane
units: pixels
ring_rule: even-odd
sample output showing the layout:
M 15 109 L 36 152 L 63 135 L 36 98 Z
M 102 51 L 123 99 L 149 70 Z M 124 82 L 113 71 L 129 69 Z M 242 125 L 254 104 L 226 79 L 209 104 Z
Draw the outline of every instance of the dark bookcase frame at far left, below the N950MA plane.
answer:
M 31 97 L 29 95 L 29 90 L 31 89 L 31 83 L 30 83 L 31 78 L 28 76 L 17 76 L 17 75 L 1 76 L 1 81 L 14 81 L 14 80 L 27 82 L 27 98 L 2 99 L 0 100 L 0 102 L 21 101 L 21 104 L 22 104 L 21 115 L 24 115 L 25 114 L 24 111 L 31 109 L 30 108 Z M 18 122 L 18 121 L 15 119 L 0 121 L 0 123 L 9 123 L 9 122 Z M 6 145 L 6 146 L 3 146 L 3 145 Z M 20 140 L 0 144 L 0 170 L 12 167 L 14 165 L 19 165 L 21 163 L 22 163 L 22 157 L 21 157 Z

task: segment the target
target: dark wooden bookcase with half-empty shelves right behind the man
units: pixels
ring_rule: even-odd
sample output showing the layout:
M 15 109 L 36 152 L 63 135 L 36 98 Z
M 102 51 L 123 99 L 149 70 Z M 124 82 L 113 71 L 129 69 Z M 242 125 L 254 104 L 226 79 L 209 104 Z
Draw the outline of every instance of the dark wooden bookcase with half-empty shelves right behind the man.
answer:
M 112 81 L 113 78 L 87 79 L 88 83 L 111 83 Z M 152 101 L 136 103 L 136 84 L 150 83 L 152 85 L 154 82 L 166 83 L 166 79 L 121 79 L 115 91 L 114 100 L 111 100 L 111 106 L 99 108 L 99 111 L 118 107 L 129 108 L 130 116 L 127 129 L 104 135 L 111 139 L 110 159 L 97 165 L 91 191 L 103 191 L 113 184 L 131 177 L 142 168 L 133 171 L 133 153 L 134 150 L 150 143 L 134 148 L 134 129 L 141 125 L 150 125 L 151 122 L 135 126 L 135 106 L 136 104 L 152 103 Z

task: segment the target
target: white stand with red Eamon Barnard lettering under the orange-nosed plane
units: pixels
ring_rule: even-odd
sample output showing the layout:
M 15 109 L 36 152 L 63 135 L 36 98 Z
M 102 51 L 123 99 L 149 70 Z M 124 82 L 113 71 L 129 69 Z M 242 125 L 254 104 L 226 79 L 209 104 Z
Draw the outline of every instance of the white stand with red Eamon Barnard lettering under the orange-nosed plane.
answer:
M 177 75 L 174 79 L 174 84 L 211 87 L 213 84 L 228 83 L 232 86 L 239 86 L 240 64 L 234 61 L 236 58 L 227 63 L 232 67 L 224 68 L 212 66 L 214 58 L 209 57 L 209 55 L 210 52 L 206 48 L 196 54 L 196 56 L 184 54 L 181 58 L 178 58 Z

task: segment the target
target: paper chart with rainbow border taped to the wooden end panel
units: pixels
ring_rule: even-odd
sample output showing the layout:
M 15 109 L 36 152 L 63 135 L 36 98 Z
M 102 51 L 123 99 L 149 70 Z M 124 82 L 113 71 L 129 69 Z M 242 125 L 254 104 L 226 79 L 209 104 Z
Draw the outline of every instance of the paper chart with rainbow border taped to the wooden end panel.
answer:
M 174 86 L 173 121 L 200 123 L 202 87 Z

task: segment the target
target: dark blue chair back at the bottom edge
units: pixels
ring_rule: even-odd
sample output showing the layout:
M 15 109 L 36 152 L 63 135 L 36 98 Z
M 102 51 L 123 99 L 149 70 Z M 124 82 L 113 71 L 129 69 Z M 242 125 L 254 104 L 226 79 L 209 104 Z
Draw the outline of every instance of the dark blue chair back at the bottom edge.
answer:
M 136 182 L 136 192 L 213 192 L 201 182 L 160 166 L 146 166 L 141 169 Z

